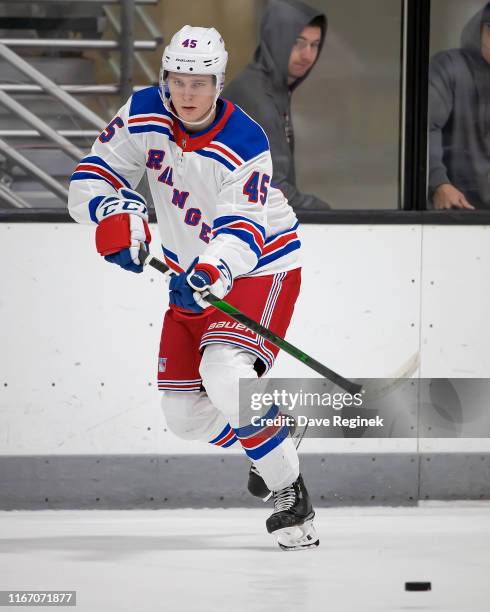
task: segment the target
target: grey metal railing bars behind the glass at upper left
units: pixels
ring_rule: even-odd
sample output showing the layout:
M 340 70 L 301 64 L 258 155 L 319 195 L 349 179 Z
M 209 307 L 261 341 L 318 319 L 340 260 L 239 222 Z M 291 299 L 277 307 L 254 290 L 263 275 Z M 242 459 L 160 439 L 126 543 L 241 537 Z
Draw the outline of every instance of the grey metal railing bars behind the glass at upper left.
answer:
M 7 4 L 14 4 L 17 0 L 4 0 Z M 66 203 L 68 191 L 47 172 L 37 166 L 33 161 L 14 149 L 8 142 L 9 139 L 36 139 L 55 145 L 55 148 L 63 151 L 71 159 L 78 161 L 84 151 L 71 142 L 71 140 L 91 139 L 93 140 L 107 121 L 100 117 L 87 106 L 82 104 L 75 96 L 120 96 L 121 101 L 126 99 L 133 91 L 143 86 L 135 86 L 133 82 L 134 63 L 142 70 L 149 83 L 155 83 L 157 74 L 139 51 L 153 51 L 163 42 L 163 37 L 151 17 L 145 13 L 144 5 L 156 5 L 159 0 L 36 0 L 32 4 L 99 4 L 103 7 L 108 22 L 118 40 L 92 40 L 92 39 L 36 39 L 36 38 L 1 38 L 0 58 L 10 64 L 29 79 L 29 83 L 0 84 L 0 105 L 7 108 L 11 113 L 19 117 L 31 129 L 0 129 L 0 155 L 8 160 L 11 166 L 18 167 L 23 173 L 33 177 L 43 187 L 47 188 L 57 198 Z M 110 6 L 105 6 L 110 5 Z M 119 18 L 114 8 L 119 6 Z M 113 8 L 114 7 L 114 8 Z M 148 32 L 151 40 L 135 40 L 134 28 L 135 18 L 138 18 Z M 69 50 L 98 50 L 108 60 L 117 84 L 107 85 L 69 85 L 57 84 L 49 79 L 24 58 L 14 51 L 16 48 L 23 49 L 69 49 Z M 109 55 L 112 51 L 119 51 L 120 57 L 117 63 Z M 63 61 L 60 59 L 60 61 Z M 73 115 L 87 123 L 90 128 L 77 130 L 56 130 L 50 127 L 41 117 L 36 116 L 27 109 L 13 95 L 15 94 L 46 94 L 59 101 L 68 108 Z M 7 139 L 7 140 L 4 140 Z M 4 174 L 5 177 L 5 174 Z M 67 177 L 68 178 L 68 177 Z M 30 204 L 15 193 L 8 185 L 8 181 L 2 178 L 0 172 L 0 200 L 16 208 L 30 207 Z

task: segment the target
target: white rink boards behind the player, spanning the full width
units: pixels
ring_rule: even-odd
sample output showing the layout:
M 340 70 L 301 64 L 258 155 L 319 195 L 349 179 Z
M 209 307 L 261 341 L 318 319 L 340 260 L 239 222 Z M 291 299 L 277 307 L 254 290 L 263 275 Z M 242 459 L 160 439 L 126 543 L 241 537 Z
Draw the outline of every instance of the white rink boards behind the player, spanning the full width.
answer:
M 152 233 L 159 255 L 156 227 Z M 489 376 L 487 228 L 305 225 L 301 237 L 292 343 L 346 376 L 382 377 L 421 339 L 424 376 Z M 15 254 L 4 260 L 0 289 L 0 454 L 221 452 L 164 430 L 155 369 L 167 290 L 158 272 L 106 264 L 92 227 L 0 224 L 0 239 L 3 252 Z M 471 289 L 476 314 L 455 287 Z M 315 373 L 282 355 L 273 375 Z M 304 445 L 319 452 L 416 448 L 416 440 Z

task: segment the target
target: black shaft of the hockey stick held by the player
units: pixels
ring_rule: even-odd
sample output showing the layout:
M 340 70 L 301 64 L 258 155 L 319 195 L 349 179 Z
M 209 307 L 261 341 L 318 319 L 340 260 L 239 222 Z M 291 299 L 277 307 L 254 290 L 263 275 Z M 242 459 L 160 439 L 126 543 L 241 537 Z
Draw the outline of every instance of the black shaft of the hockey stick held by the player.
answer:
M 165 264 L 157 257 L 154 257 L 153 255 L 148 253 L 144 249 L 144 247 L 140 248 L 139 258 L 144 265 L 149 265 L 152 268 L 155 268 L 155 270 L 161 272 L 162 274 L 165 274 L 167 276 L 171 276 L 173 274 L 172 270 L 167 266 L 167 264 Z M 284 340 L 284 338 L 281 338 L 280 336 L 272 332 L 270 329 L 267 329 L 267 327 L 264 327 L 257 321 L 254 321 L 247 315 L 243 314 L 243 312 L 237 310 L 234 306 L 228 304 L 228 302 L 220 300 L 212 293 L 203 293 L 203 298 L 206 300 L 206 302 L 211 304 L 217 310 L 224 312 L 235 321 L 242 323 L 243 325 L 254 331 L 257 335 L 262 336 L 262 338 L 265 338 L 278 348 L 282 349 L 284 352 L 288 353 L 292 357 L 295 357 L 315 372 L 318 372 L 318 374 L 321 374 L 325 378 L 328 378 L 328 380 L 344 389 L 344 391 L 347 391 L 352 395 L 361 391 L 362 385 L 354 383 L 351 380 L 344 378 L 340 374 L 337 374 L 337 372 L 334 372 L 330 368 L 327 368 L 327 366 L 324 366 L 316 359 L 313 359 L 313 357 L 310 357 L 306 353 L 303 353 L 303 351 L 296 348 L 295 346 Z

